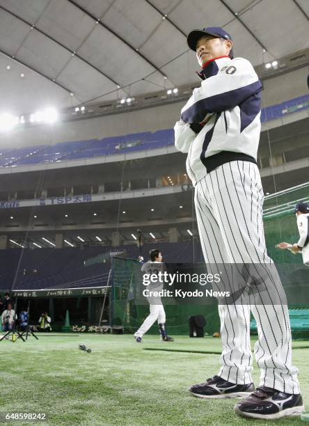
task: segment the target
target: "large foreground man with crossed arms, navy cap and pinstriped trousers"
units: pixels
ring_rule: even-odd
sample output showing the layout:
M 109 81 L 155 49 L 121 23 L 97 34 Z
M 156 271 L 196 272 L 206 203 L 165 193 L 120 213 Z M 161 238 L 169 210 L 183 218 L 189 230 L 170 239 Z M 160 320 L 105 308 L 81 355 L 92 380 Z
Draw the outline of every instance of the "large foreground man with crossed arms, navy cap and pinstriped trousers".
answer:
M 175 147 L 187 152 L 205 262 L 259 264 L 267 270 L 265 265 L 273 262 L 265 245 L 264 194 L 256 163 L 262 84 L 249 61 L 234 58 L 232 38 L 224 29 L 193 30 L 187 42 L 196 52 L 203 81 L 175 124 Z M 277 272 L 269 281 L 276 288 L 281 285 Z M 251 311 L 258 324 L 256 390 L 251 377 Z M 191 386 L 191 393 L 206 399 L 244 396 L 235 411 L 245 417 L 299 415 L 304 407 L 298 370 L 292 365 L 287 305 L 219 304 L 219 316 L 221 370 Z

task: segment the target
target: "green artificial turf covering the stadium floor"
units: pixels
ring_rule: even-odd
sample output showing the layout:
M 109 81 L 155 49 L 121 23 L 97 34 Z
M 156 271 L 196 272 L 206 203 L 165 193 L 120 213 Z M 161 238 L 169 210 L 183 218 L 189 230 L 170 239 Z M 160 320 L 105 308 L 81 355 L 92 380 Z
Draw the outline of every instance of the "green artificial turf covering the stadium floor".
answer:
M 237 399 L 201 400 L 189 394 L 191 384 L 219 371 L 219 339 L 176 336 L 169 343 L 146 335 L 138 344 L 129 335 L 38 337 L 0 342 L 1 412 L 45 411 L 49 420 L 43 424 L 48 425 L 275 423 L 240 418 L 233 412 Z M 79 343 L 93 352 L 81 351 Z M 298 349 L 293 352 L 305 404 L 309 402 L 308 346 L 308 341 L 295 341 Z M 253 377 L 258 384 L 256 365 Z M 278 424 L 305 425 L 300 418 L 276 420 Z

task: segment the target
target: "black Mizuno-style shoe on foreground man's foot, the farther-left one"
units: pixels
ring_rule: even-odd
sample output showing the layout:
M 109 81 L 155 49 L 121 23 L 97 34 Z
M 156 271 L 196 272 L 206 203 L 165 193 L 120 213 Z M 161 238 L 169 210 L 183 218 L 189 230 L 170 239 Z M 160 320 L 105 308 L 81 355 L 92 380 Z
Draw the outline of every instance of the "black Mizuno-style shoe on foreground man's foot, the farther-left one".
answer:
M 235 398 L 250 395 L 254 384 L 235 384 L 219 376 L 207 379 L 205 383 L 193 385 L 189 388 L 194 396 L 200 398 Z

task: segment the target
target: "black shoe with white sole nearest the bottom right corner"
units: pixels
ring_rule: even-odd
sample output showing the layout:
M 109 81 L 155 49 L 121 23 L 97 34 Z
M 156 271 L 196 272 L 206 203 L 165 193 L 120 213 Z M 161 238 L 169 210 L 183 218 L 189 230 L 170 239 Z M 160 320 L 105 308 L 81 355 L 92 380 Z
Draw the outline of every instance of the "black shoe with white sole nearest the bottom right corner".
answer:
M 305 411 L 305 407 L 300 394 L 292 395 L 259 386 L 255 392 L 236 404 L 234 410 L 242 417 L 271 420 L 284 416 L 299 416 Z

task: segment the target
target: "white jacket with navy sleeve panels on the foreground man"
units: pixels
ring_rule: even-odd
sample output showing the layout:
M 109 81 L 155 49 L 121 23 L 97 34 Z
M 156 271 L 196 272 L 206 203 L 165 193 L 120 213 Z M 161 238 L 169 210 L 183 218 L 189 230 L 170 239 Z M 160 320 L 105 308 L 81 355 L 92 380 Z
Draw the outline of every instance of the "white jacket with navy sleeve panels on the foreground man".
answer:
M 262 84 L 249 61 L 217 58 L 202 74 L 205 79 L 174 127 L 175 148 L 188 153 L 187 173 L 194 185 L 228 161 L 256 163 L 261 129 Z

